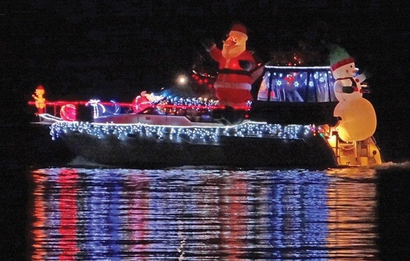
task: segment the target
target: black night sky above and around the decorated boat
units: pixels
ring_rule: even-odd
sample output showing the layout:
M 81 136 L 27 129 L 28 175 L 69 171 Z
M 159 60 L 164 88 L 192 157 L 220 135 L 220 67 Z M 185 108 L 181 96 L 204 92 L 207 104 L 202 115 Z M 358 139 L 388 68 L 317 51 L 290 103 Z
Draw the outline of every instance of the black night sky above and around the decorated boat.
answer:
M 359 3 L 360 2 L 360 3 Z M 378 115 L 375 137 L 386 160 L 410 158 L 407 99 L 408 6 L 386 1 L 255 0 L 15 1 L 0 4 L 2 88 L 10 106 L 1 121 L 24 121 L 37 84 L 46 98 L 131 101 L 142 90 L 169 87 L 218 43 L 234 20 L 249 28 L 248 47 L 264 62 L 270 52 L 303 40 L 346 48 L 356 66 L 373 72 L 369 99 Z M 408 4 L 407 4 L 408 5 Z M 23 115 L 23 116 L 21 116 Z M 398 137 L 398 138 L 397 138 Z M 385 153 L 386 152 L 386 153 Z

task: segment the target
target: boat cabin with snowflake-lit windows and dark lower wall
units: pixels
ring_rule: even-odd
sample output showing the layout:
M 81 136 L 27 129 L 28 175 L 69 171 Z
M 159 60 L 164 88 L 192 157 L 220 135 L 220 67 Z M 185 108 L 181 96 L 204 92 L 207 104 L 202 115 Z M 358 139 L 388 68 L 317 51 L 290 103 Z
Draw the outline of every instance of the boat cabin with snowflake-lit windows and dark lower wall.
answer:
M 337 119 L 334 78 L 328 66 L 265 66 L 250 119 L 278 124 L 329 124 Z

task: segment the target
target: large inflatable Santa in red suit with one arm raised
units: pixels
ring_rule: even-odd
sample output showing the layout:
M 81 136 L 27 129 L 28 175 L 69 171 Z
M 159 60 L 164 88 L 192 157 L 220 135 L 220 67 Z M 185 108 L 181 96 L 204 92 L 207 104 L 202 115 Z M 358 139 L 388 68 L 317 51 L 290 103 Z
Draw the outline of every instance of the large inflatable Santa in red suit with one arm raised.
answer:
M 246 50 L 248 36 L 244 25 L 236 23 L 230 28 L 222 50 L 212 40 L 203 40 L 202 45 L 219 63 L 219 73 L 214 87 L 220 104 L 244 106 L 252 100 L 252 72 L 256 65 L 252 54 Z

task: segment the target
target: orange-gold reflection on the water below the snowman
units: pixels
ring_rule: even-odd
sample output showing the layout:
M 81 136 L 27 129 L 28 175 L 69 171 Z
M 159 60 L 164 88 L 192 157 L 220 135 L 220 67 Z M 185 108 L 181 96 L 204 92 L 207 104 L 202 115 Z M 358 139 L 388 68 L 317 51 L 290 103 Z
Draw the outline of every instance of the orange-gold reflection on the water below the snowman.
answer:
M 327 247 L 332 260 L 375 260 L 376 185 L 367 169 L 341 170 L 327 190 Z

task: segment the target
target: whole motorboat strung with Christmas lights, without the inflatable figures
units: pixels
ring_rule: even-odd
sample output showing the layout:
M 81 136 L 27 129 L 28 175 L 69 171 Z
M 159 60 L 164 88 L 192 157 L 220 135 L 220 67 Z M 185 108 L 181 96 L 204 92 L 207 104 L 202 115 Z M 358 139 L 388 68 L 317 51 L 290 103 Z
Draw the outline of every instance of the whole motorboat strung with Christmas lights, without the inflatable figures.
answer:
M 52 139 L 62 140 L 73 155 L 109 166 L 316 168 L 381 163 L 373 137 L 351 142 L 339 137 L 329 67 L 265 65 L 262 75 L 257 98 L 246 106 L 144 93 L 133 103 L 46 102 L 54 115 L 41 113 L 39 118 Z M 133 110 L 100 113 L 107 112 L 107 106 Z M 76 119 L 67 119 L 66 112 L 58 117 L 63 107 L 76 111 Z

